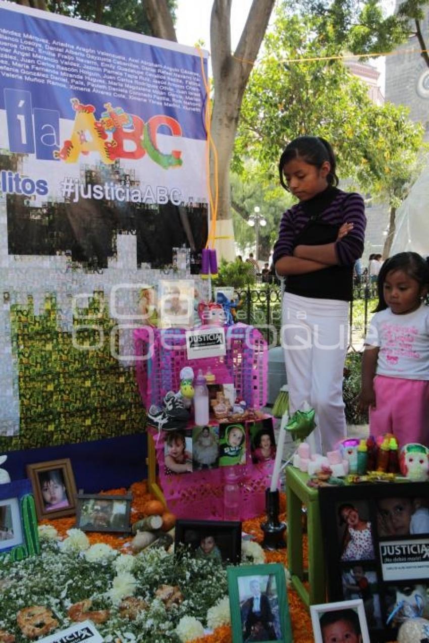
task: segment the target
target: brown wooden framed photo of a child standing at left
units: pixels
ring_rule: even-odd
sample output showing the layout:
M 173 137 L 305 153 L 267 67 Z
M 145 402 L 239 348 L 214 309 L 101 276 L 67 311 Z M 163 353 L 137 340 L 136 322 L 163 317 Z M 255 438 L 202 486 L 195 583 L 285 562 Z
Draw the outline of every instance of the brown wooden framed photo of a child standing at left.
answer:
M 76 484 L 69 458 L 26 466 L 33 486 L 37 518 L 62 518 L 76 513 Z

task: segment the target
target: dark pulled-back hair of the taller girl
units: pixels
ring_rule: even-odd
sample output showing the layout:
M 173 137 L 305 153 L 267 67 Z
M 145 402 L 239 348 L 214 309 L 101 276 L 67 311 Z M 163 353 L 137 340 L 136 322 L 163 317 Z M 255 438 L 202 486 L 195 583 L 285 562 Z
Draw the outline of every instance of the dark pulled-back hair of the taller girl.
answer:
M 331 169 L 326 177 L 328 185 L 338 185 L 338 177 L 335 174 L 337 161 L 335 161 L 335 154 L 331 145 L 324 138 L 320 136 L 299 136 L 287 145 L 285 151 L 279 160 L 279 177 L 281 185 L 290 192 L 285 176 L 283 175 L 283 167 L 286 163 L 293 159 L 302 159 L 309 165 L 315 167 L 322 167 L 323 163 L 328 161 Z

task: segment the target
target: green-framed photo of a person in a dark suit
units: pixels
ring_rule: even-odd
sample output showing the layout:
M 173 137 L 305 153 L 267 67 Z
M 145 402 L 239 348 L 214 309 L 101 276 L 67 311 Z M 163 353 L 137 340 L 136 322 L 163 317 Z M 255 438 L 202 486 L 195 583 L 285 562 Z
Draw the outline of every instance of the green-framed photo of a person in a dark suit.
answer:
M 234 643 L 291 641 L 283 565 L 229 567 L 227 575 Z

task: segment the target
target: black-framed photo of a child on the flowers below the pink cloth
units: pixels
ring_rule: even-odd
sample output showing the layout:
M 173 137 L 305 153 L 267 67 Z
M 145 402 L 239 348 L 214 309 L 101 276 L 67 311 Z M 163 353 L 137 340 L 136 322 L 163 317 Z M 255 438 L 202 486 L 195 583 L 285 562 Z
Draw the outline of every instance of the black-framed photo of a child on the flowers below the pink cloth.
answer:
M 238 565 L 241 560 L 241 522 L 177 520 L 175 550 L 190 548 L 193 556 Z

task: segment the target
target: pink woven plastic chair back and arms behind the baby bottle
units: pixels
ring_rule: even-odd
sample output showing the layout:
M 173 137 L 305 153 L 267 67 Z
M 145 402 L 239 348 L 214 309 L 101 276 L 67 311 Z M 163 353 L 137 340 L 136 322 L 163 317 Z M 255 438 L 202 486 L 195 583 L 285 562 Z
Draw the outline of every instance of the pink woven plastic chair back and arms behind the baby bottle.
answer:
M 191 359 L 186 356 L 184 329 L 134 331 L 136 376 L 143 404 L 161 404 L 166 392 L 178 391 L 180 370 L 191 366 L 195 372 L 207 368 L 216 374 L 216 383 L 234 383 L 236 395 L 248 406 L 262 408 L 267 403 L 268 352 L 263 335 L 242 323 L 225 327 L 227 353 L 219 358 Z

